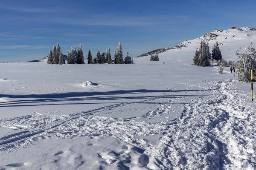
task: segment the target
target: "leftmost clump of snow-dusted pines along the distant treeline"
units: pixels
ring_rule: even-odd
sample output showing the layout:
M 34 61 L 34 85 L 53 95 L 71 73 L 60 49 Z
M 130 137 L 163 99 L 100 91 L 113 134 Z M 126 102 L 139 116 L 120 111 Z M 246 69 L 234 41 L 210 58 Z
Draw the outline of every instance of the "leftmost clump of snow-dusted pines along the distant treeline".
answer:
M 48 64 L 66 64 L 65 59 L 63 58 L 63 54 L 61 53 L 61 47 L 59 43 L 57 46 L 53 45 L 52 50 L 49 50 L 49 55 L 48 55 Z

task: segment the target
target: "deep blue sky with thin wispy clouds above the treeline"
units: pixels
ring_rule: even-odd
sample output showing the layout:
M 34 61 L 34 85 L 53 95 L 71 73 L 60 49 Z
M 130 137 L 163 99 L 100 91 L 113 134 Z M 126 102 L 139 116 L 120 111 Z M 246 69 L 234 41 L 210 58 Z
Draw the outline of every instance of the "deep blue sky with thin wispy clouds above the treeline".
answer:
M 82 44 L 132 57 L 195 39 L 213 29 L 256 27 L 255 0 L 0 0 L 0 62 L 26 62 L 63 54 Z

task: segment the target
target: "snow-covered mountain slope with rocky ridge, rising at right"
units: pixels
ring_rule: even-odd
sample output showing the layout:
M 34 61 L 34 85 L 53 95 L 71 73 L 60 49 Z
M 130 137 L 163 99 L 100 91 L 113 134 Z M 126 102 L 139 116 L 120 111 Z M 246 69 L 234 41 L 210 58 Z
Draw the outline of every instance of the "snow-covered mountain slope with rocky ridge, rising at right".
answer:
M 196 38 L 194 40 L 185 40 L 175 47 L 160 48 L 157 50 L 150 51 L 148 53 L 142 54 L 138 57 L 144 57 L 155 53 L 164 53 L 174 49 L 182 49 L 187 47 L 199 48 L 201 40 L 209 43 L 210 48 L 212 48 L 213 43 L 218 41 L 221 49 L 228 49 L 234 54 L 237 50 L 240 53 L 248 46 L 251 40 L 256 39 L 256 29 L 251 27 L 235 27 L 232 26 L 228 30 L 215 29 L 210 33 L 204 34 L 203 36 Z

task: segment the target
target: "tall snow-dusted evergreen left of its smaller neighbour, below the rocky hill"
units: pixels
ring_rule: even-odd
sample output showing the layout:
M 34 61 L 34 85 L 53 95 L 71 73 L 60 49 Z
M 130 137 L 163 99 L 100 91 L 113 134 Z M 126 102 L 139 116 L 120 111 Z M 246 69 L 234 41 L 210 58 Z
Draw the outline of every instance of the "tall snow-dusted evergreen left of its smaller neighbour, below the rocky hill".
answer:
M 207 52 L 207 44 L 206 44 L 206 42 L 205 41 L 201 41 L 201 45 L 200 45 L 200 48 L 199 48 L 199 50 L 198 50 L 198 59 L 197 59 L 197 57 L 195 58 L 194 57 L 194 63 L 195 63 L 195 61 L 196 61 L 196 65 L 198 65 L 198 66 L 203 66 L 203 67 L 205 67 L 205 66 L 208 66 L 208 65 L 210 65 L 210 63 L 209 63 L 209 56 L 208 56 L 208 52 Z

